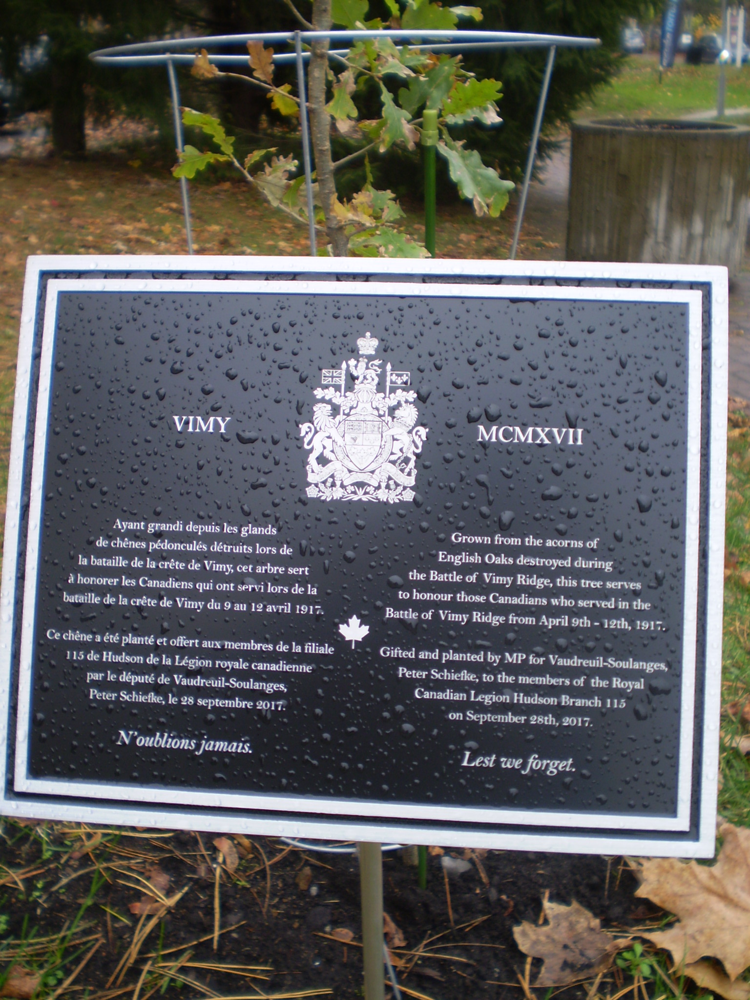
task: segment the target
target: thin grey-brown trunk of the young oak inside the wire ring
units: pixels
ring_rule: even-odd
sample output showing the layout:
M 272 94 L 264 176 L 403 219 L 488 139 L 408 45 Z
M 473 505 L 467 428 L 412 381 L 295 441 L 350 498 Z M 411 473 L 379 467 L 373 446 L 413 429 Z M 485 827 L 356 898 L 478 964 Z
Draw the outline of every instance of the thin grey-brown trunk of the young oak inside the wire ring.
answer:
M 331 0 L 313 0 L 312 25 L 315 31 L 331 30 Z M 313 42 L 308 70 L 310 135 L 315 153 L 318 192 L 326 220 L 326 235 L 334 257 L 346 257 L 349 248 L 341 220 L 334 212 L 336 184 L 331 156 L 331 117 L 326 111 L 326 76 L 328 74 L 328 39 Z

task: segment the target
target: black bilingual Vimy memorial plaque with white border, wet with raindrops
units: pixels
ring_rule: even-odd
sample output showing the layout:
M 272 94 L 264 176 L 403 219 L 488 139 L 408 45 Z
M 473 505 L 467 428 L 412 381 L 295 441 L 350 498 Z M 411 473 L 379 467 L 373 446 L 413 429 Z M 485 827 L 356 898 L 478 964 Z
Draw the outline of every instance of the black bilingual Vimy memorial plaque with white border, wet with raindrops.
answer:
M 30 270 L 4 811 L 711 854 L 720 269 L 157 260 Z

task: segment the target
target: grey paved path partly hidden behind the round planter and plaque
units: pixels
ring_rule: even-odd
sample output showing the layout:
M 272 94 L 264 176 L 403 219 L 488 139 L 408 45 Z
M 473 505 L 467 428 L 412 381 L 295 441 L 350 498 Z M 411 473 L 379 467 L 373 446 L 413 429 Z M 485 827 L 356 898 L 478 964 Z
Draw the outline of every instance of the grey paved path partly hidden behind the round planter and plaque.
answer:
M 545 239 L 559 244 L 561 260 L 565 257 L 569 172 L 570 141 L 565 140 L 529 188 L 524 219 L 524 225 L 528 222 Z M 729 288 L 729 395 L 740 401 L 735 405 L 748 401 L 750 409 L 750 247 L 744 266 Z

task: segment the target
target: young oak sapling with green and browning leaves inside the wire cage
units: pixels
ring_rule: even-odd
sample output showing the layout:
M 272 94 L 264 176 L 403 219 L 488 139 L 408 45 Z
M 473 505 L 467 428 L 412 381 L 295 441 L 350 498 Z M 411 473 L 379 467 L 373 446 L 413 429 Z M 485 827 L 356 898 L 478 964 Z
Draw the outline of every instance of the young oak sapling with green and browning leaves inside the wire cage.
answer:
M 379 18 L 367 20 L 369 0 L 313 0 L 311 21 L 294 9 L 306 29 L 330 31 L 341 25 L 351 29 L 380 30 L 403 27 L 441 30 L 455 28 L 460 18 L 481 20 L 479 7 L 443 7 L 430 0 L 386 0 L 391 13 L 384 25 Z M 291 0 L 288 0 L 291 5 Z M 293 6 L 293 5 L 292 5 Z M 426 257 L 422 243 L 397 229 L 393 223 L 404 213 L 391 191 L 379 191 L 372 182 L 370 155 L 383 155 L 393 146 L 415 149 L 422 135 L 422 112 L 438 112 L 440 138 L 437 152 L 448 165 L 448 173 L 463 198 L 478 216 L 496 218 L 508 203 L 514 185 L 483 163 L 476 150 L 454 139 L 451 126 L 478 122 L 484 126 L 501 123 L 497 101 L 501 84 L 479 80 L 462 68 L 460 55 L 417 51 L 396 46 L 390 38 L 375 36 L 356 41 L 345 55 L 331 57 L 327 40 L 317 40 L 310 48 L 308 64 L 308 113 L 316 172 L 313 185 L 315 228 L 327 246 L 320 252 L 333 256 Z M 192 72 L 210 80 L 235 77 L 265 90 L 273 108 L 283 116 L 299 118 L 299 96 L 290 84 L 274 82 L 273 49 L 260 42 L 248 42 L 252 75 L 222 73 L 202 50 L 195 57 Z M 380 102 L 381 117 L 362 118 L 364 99 Z M 199 128 L 213 143 L 199 150 L 186 145 L 173 168 L 175 177 L 192 178 L 211 163 L 231 163 L 275 208 L 307 225 L 304 176 L 296 176 L 299 163 L 294 156 L 276 156 L 275 148 L 253 150 L 240 163 L 234 152 L 234 137 L 227 135 L 212 115 L 191 108 L 182 109 L 186 125 Z M 331 130 L 349 141 L 352 152 L 334 161 Z M 364 157 L 366 183 L 349 199 L 338 196 L 335 174 L 341 167 Z

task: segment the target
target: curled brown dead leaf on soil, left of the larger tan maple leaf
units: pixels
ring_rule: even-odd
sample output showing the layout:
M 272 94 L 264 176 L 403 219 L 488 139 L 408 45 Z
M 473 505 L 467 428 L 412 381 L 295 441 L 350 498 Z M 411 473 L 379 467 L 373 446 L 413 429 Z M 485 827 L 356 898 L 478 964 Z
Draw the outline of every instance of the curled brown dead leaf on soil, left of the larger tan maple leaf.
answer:
M 549 923 L 542 927 L 524 921 L 513 928 L 516 944 L 526 955 L 544 959 L 534 986 L 564 986 L 576 979 L 604 972 L 629 938 L 613 941 L 601 922 L 576 903 L 547 903 Z

